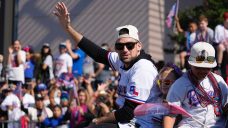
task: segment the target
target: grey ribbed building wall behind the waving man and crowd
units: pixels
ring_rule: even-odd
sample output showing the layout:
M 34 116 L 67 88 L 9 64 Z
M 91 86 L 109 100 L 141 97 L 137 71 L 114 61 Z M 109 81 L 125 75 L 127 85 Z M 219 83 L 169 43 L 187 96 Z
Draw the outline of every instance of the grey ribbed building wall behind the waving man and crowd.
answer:
M 115 28 L 132 24 L 139 29 L 145 51 L 155 61 L 174 61 L 164 48 L 173 47 L 168 38 L 165 18 L 175 0 L 63 0 L 70 11 L 73 26 L 98 45 L 114 46 Z M 17 1 L 15 9 L 17 38 L 23 45 L 32 45 L 39 52 L 43 43 L 50 43 L 54 54 L 58 44 L 70 39 L 53 15 L 57 0 Z M 199 0 L 180 0 L 180 8 L 202 4 Z M 10 42 L 4 42 L 10 43 Z

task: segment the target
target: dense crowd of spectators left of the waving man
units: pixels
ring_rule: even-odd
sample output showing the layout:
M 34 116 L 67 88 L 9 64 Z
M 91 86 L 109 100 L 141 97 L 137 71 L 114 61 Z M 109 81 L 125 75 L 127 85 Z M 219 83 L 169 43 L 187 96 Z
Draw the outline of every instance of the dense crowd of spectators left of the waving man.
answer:
M 16 40 L 9 47 L 6 66 L 0 56 L 2 123 L 21 127 L 24 119 L 34 122 L 33 127 L 80 128 L 116 109 L 117 72 L 94 62 L 81 49 L 72 49 L 69 40 L 59 44 L 56 57 L 50 47 L 44 43 L 35 53 L 32 46 L 22 47 Z

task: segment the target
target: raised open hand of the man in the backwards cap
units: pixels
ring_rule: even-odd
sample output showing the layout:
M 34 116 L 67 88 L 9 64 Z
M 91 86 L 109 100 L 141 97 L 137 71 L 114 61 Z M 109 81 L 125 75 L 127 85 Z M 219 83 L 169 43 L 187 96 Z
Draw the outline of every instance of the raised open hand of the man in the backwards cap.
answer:
M 60 23 L 64 28 L 69 28 L 70 26 L 70 13 L 67 10 L 66 5 L 63 2 L 58 2 L 55 6 L 55 11 L 53 13 L 58 17 Z

